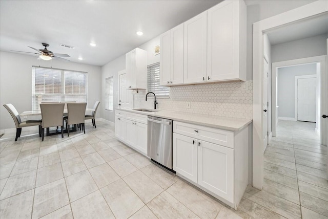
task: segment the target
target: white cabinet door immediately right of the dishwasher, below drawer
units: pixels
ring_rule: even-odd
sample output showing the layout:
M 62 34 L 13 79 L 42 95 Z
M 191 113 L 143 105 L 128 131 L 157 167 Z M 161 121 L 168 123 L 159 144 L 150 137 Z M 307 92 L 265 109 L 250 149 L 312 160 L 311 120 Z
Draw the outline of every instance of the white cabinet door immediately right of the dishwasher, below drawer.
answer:
M 197 140 L 173 133 L 173 170 L 197 183 Z

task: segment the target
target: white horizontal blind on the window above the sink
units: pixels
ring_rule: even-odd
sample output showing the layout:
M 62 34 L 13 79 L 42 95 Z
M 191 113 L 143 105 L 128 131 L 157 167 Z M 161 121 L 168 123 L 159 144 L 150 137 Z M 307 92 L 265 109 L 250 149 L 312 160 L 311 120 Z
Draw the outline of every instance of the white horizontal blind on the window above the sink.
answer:
M 147 67 L 147 89 L 156 97 L 170 97 L 170 87 L 159 85 L 159 62 Z

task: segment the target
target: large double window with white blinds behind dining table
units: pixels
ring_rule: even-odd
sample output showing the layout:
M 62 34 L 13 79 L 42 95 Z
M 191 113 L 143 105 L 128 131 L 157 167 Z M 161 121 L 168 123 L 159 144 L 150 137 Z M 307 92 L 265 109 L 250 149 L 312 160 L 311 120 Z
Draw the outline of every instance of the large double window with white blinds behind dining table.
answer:
M 32 67 L 32 110 L 42 102 L 88 101 L 88 74 L 64 69 Z

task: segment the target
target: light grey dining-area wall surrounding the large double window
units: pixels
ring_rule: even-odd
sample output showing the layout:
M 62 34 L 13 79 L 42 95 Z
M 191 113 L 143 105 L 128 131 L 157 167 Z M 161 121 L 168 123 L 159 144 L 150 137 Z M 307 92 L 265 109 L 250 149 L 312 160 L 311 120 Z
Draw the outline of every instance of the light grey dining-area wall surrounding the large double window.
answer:
M 95 101 L 100 100 L 101 72 L 98 66 L 58 60 L 37 60 L 35 56 L 2 51 L 0 63 L 0 129 L 2 130 L 15 127 L 13 119 L 3 104 L 12 103 L 18 113 L 32 110 L 32 65 L 88 72 L 88 107 L 93 107 Z M 96 116 L 101 118 L 101 112 Z

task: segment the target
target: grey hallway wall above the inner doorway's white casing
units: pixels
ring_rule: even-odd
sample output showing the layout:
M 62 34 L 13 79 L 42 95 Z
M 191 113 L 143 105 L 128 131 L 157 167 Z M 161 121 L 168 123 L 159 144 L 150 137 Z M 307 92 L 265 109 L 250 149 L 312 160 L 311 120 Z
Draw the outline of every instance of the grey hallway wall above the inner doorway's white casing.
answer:
M 326 55 L 327 34 L 272 46 L 272 62 Z

